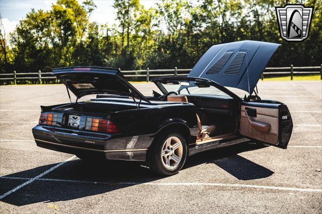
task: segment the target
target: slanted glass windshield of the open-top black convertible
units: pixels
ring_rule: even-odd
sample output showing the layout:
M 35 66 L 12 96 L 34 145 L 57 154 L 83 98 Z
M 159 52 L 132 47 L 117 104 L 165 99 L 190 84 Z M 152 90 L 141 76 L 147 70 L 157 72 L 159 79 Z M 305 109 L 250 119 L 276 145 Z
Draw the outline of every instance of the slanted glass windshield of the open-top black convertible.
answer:
M 199 95 L 219 95 L 229 96 L 218 88 L 204 81 L 188 81 L 188 80 L 168 80 L 161 82 L 165 89 L 175 91 L 178 94 L 199 94 Z

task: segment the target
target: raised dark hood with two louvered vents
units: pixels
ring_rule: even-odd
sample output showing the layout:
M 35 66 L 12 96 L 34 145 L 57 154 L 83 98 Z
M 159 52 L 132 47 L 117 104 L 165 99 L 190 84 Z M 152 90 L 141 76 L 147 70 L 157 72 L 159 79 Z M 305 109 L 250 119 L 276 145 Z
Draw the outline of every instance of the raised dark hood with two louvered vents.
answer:
M 280 44 L 240 41 L 212 46 L 189 77 L 202 77 L 252 94 L 268 61 Z

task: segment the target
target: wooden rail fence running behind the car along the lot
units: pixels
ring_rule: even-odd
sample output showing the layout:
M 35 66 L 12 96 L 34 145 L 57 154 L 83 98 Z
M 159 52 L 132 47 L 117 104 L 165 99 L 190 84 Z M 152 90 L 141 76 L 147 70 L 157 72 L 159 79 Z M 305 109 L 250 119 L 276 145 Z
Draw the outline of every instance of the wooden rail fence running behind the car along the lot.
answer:
M 148 82 L 150 77 L 157 76 L 187 76 L 191 69 L 155 69 L 149 70 L 131 70 L 131 71 L 121 71 L 121 73 L 127 77 L 145 77 L 144 79 Z M 322 79 L 322 64 L 320 66 L 306 66 L 306 67 L 294 67 L 290 65 L 289 67 L 267 67 L 265 68 L 262 79 L 268 75 L 281 76 L 281 75 L 290 75 L 290 79 L 293 80 L 293 76 L 296 74 L 320 74 L 320 79 Z M 45 76 L 42 76 L 45 75 Z M 5 78 L 0 78 L 0 81 L 10 81 L 12 84 L 17 84 L 17 80 L 33 80 L 42 84 L 42 80 L 51 80 L 56 79 L 55 76 L 52 76 L 51 72 L 38 72 L 34 73 L 2 73 L 0 77 L 5 76 Z

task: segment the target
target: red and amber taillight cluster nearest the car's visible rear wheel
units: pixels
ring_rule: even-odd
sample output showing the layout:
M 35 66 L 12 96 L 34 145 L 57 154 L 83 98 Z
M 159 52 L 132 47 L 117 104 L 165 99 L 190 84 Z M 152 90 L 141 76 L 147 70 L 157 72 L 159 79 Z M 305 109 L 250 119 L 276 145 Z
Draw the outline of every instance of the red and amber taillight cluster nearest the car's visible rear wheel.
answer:
M 86 118 L 85 130 L 94 131 L 94 132 L 105 132 L 116 134 L 120 133 L 115 124 L 112 121 L 98 119 L 98 118 Z

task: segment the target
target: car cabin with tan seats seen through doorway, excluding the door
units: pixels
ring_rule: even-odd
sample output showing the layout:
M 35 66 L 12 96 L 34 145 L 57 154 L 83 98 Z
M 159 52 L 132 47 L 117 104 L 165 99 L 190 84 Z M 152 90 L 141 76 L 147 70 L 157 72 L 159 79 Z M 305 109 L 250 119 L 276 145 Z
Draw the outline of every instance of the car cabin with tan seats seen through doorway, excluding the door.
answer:
M 169 91 L 165 95 L 153 91 L 153 97 L 149 99 L 157 100 L 157 97 L 158 100 L 195 104 L 198 122 L 197 144 L 235 136 L 237 113 L 239 112 L 238 103 L 227 94 L 191 94 L 190 92 L 180 94 L 180 90 L 177 90 Z

